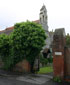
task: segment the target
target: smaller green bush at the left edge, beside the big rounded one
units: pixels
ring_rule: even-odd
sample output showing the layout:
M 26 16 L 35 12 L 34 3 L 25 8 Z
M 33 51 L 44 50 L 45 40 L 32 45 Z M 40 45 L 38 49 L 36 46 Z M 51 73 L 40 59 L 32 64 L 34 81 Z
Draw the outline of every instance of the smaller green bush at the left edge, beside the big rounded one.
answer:
M 0 35 L 0 59 L 2 59 L 4 63 L 4 69 L 8 69 L 11 63 L 10 56 L 10 48 L 11 45 L 9 43 L 9 36 L 6 34 Z

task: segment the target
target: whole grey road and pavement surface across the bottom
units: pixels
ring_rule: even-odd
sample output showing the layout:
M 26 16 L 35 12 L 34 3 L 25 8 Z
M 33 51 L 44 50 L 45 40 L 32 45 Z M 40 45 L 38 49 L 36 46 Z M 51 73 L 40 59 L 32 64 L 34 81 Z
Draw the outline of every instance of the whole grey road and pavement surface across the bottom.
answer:
M 0 85 L 70 85 L 53 82 L 50 74 L 18 74 L 0 70 Z

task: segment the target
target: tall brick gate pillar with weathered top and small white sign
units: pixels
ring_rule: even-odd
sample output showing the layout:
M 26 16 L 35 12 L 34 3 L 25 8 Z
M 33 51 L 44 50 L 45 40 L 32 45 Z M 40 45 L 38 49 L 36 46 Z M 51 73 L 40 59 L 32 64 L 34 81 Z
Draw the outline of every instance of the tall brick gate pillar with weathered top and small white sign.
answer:
M 53 36 L 53 69 L 54 77 L 64 78 L 64 29 L 56 29 Z

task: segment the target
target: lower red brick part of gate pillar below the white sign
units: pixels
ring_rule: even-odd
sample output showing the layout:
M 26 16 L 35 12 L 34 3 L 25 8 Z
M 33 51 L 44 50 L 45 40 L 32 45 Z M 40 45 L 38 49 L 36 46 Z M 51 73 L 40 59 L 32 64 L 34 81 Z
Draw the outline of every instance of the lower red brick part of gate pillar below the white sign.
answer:
M 58 76 L 63 78 L 64 76 L 64 58 L 63 57 L 55 57 L 53 58 L 53 69 L 54 76 Z

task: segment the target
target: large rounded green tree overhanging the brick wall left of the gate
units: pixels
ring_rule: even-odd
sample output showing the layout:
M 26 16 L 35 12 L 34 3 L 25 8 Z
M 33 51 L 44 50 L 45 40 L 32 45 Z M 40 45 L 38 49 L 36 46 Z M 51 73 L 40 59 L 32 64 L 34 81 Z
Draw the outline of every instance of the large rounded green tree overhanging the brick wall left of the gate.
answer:
M 23 59 L 27 59 L 33 71 L 34 60 L 45 45 L 45 31 L 40 24 L 34 22 L 22 22 L 14 25 L 11 34 L 12 53 L 14 65 Z

